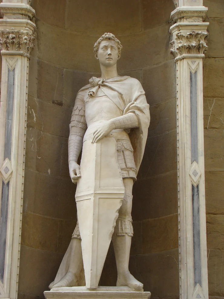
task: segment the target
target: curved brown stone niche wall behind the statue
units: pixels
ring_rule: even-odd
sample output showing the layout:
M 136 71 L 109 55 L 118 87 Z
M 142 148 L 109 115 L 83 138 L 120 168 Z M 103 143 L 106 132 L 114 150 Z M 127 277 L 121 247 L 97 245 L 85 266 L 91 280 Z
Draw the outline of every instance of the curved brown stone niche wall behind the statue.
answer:
M 179 297 L 176 65 L 169 54 L 172 0 L 33 0 L 37 39 L 29 73 L 28 131 L 18 298 L 42 298 L 76 223 L 68 124 L 77 91 L 100 76 L 94 42 L 123 45 L 120 75 L 141 81 L 151 124 L 133 187 L 130 270 L 152 298 Z M 101 285 L 116 284 L 112 246 Z

